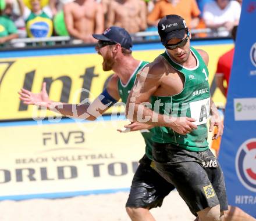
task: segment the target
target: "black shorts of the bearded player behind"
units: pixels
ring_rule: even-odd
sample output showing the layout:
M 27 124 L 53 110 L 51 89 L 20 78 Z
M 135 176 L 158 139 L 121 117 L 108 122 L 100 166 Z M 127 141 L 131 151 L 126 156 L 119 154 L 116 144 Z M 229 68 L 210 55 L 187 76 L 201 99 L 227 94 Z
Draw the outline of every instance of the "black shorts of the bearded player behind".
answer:
M 133 176 L 126 207 L 155 208 L 175 187 L 151 168 L 151 160 L 144 155 Z

